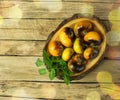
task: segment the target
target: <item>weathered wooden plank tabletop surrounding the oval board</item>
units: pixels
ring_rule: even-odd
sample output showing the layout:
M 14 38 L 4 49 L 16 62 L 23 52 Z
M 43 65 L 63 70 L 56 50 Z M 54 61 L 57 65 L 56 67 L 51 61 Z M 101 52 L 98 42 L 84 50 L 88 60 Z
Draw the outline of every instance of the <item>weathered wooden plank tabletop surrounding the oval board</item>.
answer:
M 35 62 L 42 59 L 48 35 L 75 13 L 110 22 L 109 48 L 94 71 L 66 85 L 57 78 L 50 81 L 48 73 L 39 75 Z M 109 72 L 114 85 L 120 84 L 119 19 L 120 0 L 1 0 L 0 100 L 113 100 L 101 90 L 96 76 Z

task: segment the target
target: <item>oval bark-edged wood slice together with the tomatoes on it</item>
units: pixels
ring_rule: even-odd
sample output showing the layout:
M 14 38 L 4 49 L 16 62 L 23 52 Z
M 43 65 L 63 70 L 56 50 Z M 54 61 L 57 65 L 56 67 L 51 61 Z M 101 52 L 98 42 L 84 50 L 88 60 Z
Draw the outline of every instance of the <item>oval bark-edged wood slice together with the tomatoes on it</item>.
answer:
M 67 34 L 67 37 L 64 37 L 64 34 Z M 70 38 L 71 42 L 67 40 L 67 38 Z M 52 45 L 49 46 L 49 44 L 54 41 L 59 43 L 52 49 Z M 75 45 L 75 43 L 78 46 Z M 55 48 L 59 49 L 59 52 L 55 51 L 56 54 L 54 55 Z M 72 50 L 69 49 L 69 53 L 67 50 L 64 52 L 66 48 L 72 48 Z M 80 50 L 80 48 L 82 50 Z M 86 50 L 87 48 L 88 50 Z M 49 49 L 51 49 L 51 51 Z M 70 75 L 70 79 L 80 79 L 95 69 L 104 57 L 104 52 L 106 50 L 105 27 L 100 19 L 95 16 L 86 17 L 76 14 L 71 18 L 64 20 L 49 35 L 44 50 L 47 52 L 48 57 L 51 55 L 59 57 L 67 63 L 68 70 L 73 72 L 73 74 Z M 63 52 L 65 55 L 63 55 Z M 78 60 L 76 61 L 77 64 L 75 64 L 75 55 L 78 57 Z M 57 74 L 56 76 L 62 78 L 62 71 L 59 73 L 60 74 Z

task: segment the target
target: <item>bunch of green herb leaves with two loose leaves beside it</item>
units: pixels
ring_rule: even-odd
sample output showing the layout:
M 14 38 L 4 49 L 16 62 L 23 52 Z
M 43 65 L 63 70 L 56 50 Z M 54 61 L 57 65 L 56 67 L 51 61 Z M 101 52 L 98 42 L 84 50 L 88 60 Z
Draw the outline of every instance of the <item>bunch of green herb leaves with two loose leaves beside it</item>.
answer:
M 56 76 L 61 76 L 64 82 L 68 85 L 70 84 L 70 75 L 73 73 L 70 72 L 67 68 L 67 63 L 61 59 L 61 57 L 48 56 L 47 52 L 43 50 L 42 52 L 44 64 L 49 70 L 49 79 L 53 80 Z M 37 59 L 36 66 L 41 66 L 43 62 L 40 59 Z M 44 68 L 39 70 L 40 75 L 46 74 Z

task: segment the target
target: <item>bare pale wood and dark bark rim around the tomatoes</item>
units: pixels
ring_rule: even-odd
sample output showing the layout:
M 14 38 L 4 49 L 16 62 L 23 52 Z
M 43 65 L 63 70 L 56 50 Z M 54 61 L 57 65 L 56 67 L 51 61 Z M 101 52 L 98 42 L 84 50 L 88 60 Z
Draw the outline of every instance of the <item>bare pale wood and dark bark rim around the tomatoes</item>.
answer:
M 49 35 L 49 37 L 47 39 L 47 42 L 45 44 L 45 48 L 44 48 L 44 50 L 48 51 L 47 50 L 48 43 L 50 43 L 51 41 L 55 41 L 55 40 L 59 41 L 59 33 L 62 29 L 64 29 L 65 27 L 74 28 L 74 25 L 77 22 L 80 22 L 80 21 L 90 21 L 94 25 L 94 30 L 97 31 L 98 33 L 100 33 L 100 35 L 102 37 L 102 42 L 100 43 L 100 50 L 99 50 L 99 54 L 97 55 L 97 57 L 95 57 L 92 60 L 89 60 L 83 71 L 81 71 L 79 73 L 75 73 L 74 75 L 70 76 L 71 79 L 80 79 L 83 76 L 87 75 L 87 73 L 89 73 L 93 69 L 95 69 L 95 67 L 100 63 L 100 61 L 104 57 L 104 53 L 105 53 L 105 50 L 106 50 L 106 29 L 105 29 L 103 23 L 101 23 L 100 19 L 95 17 L 95 16 L 86 17 L 86 16 L 83 16 L 83 15 L 80 15 L 80 14 L 75 14 L 71 18 L 65 19 Z M 61 75 L 58 76 L 58 78 L 61 78 Z

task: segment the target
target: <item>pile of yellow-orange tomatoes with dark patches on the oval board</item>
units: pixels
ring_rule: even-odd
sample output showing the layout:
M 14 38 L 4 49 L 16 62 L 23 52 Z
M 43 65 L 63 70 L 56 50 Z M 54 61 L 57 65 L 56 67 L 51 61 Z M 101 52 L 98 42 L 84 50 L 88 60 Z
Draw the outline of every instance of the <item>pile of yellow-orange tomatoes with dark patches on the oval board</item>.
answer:
M 72 27 L 63 27 L 58 37 L 58 40 L 48 43 L 48 52 L 51 56 L 61 57 L 72 72 L 83 71 L 87 62 L 99 54 L 102 37 L 88 20 L 77 22 Z

